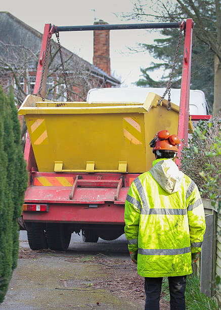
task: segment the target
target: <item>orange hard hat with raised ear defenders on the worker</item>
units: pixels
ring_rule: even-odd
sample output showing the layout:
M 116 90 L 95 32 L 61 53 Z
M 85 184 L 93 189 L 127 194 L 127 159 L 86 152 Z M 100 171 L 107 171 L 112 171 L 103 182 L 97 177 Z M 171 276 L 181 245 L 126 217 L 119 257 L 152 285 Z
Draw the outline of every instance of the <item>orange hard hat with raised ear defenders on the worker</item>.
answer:
M 173 150 L 177 152 L 180 143 L 181 140 L 177 135 L 170 135 L 168 130 L 161 130 L 150 142 L 150 147 L 153 147 L 153 150 Z

